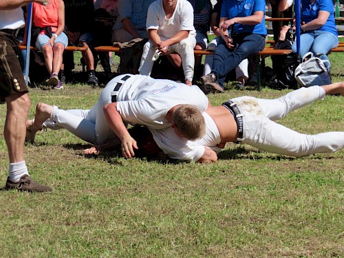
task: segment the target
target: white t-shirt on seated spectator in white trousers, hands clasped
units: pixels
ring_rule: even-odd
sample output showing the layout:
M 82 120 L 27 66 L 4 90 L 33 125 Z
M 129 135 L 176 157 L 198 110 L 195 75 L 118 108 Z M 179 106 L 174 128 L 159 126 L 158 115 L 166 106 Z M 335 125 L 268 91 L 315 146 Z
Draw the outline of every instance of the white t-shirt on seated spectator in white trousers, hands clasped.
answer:
M 178 0 L 170 19 L 166 19 L 162 0 L 151 3 L 147 14 L 147 30 L 158 30 L 159 36 L 170 39 L 181 30 L 189 30 L 190 35 L 195 36 L 193 26 L 193 6 L 187 0 Z

